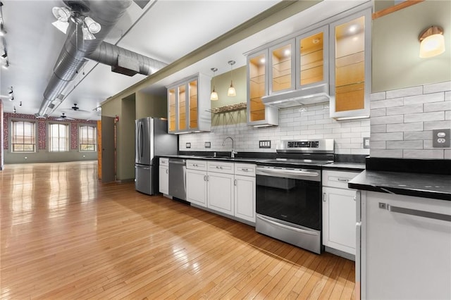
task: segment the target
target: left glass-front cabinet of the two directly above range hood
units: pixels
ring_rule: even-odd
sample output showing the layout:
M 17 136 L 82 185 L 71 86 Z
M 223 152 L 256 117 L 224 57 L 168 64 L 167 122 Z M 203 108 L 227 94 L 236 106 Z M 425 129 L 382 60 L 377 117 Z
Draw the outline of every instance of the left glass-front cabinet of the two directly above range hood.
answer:
M 294 53 L 294 39 L 269 49 L 271 55 L 269 94 L 295 89 Z

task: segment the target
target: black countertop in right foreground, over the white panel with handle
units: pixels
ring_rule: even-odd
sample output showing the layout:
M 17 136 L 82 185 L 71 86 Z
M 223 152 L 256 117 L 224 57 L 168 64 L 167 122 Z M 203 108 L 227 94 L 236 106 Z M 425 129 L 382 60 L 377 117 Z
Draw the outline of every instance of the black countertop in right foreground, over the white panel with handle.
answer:
M 364 170 L 348 182 L 348 187 L 451 201 L 451 175 Z

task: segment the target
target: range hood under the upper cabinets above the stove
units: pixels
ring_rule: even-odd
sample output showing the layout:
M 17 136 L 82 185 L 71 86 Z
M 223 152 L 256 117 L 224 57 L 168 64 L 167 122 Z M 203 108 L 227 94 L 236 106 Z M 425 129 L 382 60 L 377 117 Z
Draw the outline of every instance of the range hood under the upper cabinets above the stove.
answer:
M 324 103 L 329 101 L 329 86 L 324 83 L 314 87 L 264 96 L 261 100 L 264 105 L 278 108 Z

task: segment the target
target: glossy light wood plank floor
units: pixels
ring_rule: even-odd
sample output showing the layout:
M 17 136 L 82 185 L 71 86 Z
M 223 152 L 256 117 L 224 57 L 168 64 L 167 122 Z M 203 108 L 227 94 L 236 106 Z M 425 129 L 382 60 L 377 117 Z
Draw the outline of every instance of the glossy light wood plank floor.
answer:
M 0 299 L 354 299 L 354 262 L 132 183 L 97 163 L 0 171 Z

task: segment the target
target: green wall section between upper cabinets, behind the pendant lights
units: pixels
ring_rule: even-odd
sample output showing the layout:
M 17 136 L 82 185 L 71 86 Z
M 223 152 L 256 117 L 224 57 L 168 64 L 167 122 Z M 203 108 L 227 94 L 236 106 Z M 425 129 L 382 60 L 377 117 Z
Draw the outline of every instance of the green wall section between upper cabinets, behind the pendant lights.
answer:
M 234 97 L 227 96 L 230 80 L 233 78 L 233 86 L 237 92 Z M 238 104 L 247 101 L 247 80 L 246 66 L 234 69 L 232 72 L 217 75 L 211 79 L 211 90 L 215 86 L 218 92 L 218 101 L 211 101 L 211 108 L 220 108 L 231 104 Z M 246 110 L 232 111 L 227 113 L 211 113 L 211 125 L 230 125 L 246 123 Z

